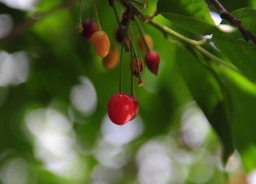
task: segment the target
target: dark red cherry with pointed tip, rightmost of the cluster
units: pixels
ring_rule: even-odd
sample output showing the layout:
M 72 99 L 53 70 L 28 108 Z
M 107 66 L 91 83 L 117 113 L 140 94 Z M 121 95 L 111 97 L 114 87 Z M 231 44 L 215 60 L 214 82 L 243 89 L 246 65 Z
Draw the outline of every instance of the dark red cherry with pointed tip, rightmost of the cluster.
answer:
M 155 75 L 158 74 L 160 56 L 157 52 L 152 51 L 146 54 L 145 57 L 147 68 Z

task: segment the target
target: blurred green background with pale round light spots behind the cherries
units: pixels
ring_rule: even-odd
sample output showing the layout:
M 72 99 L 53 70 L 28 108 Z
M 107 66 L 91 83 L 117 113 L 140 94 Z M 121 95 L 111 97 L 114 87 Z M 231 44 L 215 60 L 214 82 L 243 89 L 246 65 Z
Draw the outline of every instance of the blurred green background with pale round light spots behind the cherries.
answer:
M 218 137 L 185 86 L 176 48 L 161 32 L 142 25 L 161 56 L 159 75 L 143 72 L 144 86 L 136 86 L 139 117 L 116 126 L 106 106 L 118 93 L 118 67 L 106 71 L 91 42 L 75 31 L 78 1 L 8 39 L 3 37 L 13 28 L 63 1 L 0 2 L 0 183 L 227 183 L 227 175 L 229 183 L 256 183 L 256 165 L 248 162 L 251 169 L 245 175 L 238 152 L 224 173 Z M 153 13 L 156 3 L 148 1 L 145 12 Z M 222 3 L 230 12 L 256 8 L 255 0 Z M 108 1 L 97 4 L 102 29 L 113 40 L 113 9 Z M 93 2 L 82 1 L 82 7 L 83 19 L 90 17 Z M 160 15 L 156 20 L 198 38 Z M 132 27 L 137 39 L 136 25 Z M 139 49 L 138 54 L 144 57 Z M 129 61 L 125 53 L 126 94 Z M 255 154 L 246 156 L 250 160 Z

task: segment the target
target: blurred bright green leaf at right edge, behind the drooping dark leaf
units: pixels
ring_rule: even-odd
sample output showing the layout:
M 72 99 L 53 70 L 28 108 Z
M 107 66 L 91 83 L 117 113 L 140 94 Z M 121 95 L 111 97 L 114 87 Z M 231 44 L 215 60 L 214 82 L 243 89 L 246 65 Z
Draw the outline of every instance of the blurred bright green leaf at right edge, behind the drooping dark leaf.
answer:
M 243 156 L 252 152 L 256 145 L 256 86 L 254 83 L 227 68 L 222 68 L 220 73 L 223 82 L 229 89 L 232 101 L 232 128 L 236 148 Z M 246 156 L 247 157 L 247 156 Z M 256 167 L 255 154 L 248 163 L 248 158 L 243 159 L 246 170 Z

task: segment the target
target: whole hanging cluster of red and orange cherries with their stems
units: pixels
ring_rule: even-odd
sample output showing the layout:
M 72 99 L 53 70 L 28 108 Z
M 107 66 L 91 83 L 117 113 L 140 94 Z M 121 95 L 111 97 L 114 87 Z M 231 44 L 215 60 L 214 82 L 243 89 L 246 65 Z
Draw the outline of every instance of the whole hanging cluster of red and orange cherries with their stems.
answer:
M 116 1 L 110 2 L 110 5 L 113 7 Z M 145 5 L 145 2 L 141 4 L 143 8 L 146 8 Z M 129 27 L 130 21 L 135 20 L 136 17 L 141 17 L 139 16 L 139 13 L 137 13 L 129 4 L 123 3 L 123 6 L 126 7 L 126 11 L 123 12 L 122 20 L 119 21 L 117 18 L 119 27 L 116 28 L 114 41 L 122 44 L 121 56 L 124 46 L 126 46 L 125 52 L 131 52 L 130 70 L 132 72 L 132 76 L 139 78 L 138 85 L 141 86 L 143 85 L 141 73 L 144 70 L 144 61 L 142 57 L 137 56 L 132 39 L 132 28 Z M 103 66 L 110 70 L 118 64 L 119 60 L 121 65 L 121 58 L 119 58 L 118 50 L 114 47 L 114 44 L 111 46 L 108 35 L 101 29 L 99 19 L 97 17 L 96 6 L 95 12 L 97 18 L 96 22 L 94 22 L 92 19 L 84 20 L 82 23 L 81 35 L 84 39 L 92 41 L 96 53 L 98 56 L 103 58 Z M 137 24 L 139 24 L 138 20 Z M 139 48 L 145 53 L 146 66 L 153 74 L 157 75 L 160 56 L 156 51 L 153 51 L 154 42 L 151 36 L 144 34 L 144 31 L 140 25 L 138 25 L 138 28 L 140 29 L 141 33 L 138 37 L 138 45 Z M 121 72 L 121 67 L 119 72 Z M 121 82 L 119 85 L 121 85 Z M 122 93 L 120 86 L 119 89 L 119 93 L 113 95 L 109 100 L 108 115 L 113 123 L 117 125 L 124 125 L 125 123 L 134 120 L 138 116 L 139 100 L 134 95 L 133 78 L 131 96 Z

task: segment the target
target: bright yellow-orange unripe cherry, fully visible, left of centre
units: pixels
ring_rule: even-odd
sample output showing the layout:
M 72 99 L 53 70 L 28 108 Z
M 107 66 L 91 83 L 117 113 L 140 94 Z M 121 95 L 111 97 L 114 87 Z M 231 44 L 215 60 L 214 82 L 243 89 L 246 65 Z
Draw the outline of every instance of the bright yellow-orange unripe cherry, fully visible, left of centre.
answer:
M 100 57 L 105 57 L 110 51 L 110 40 L 104 31 L 97 31 L 92 36 L 92 43 L 96 53 Z

